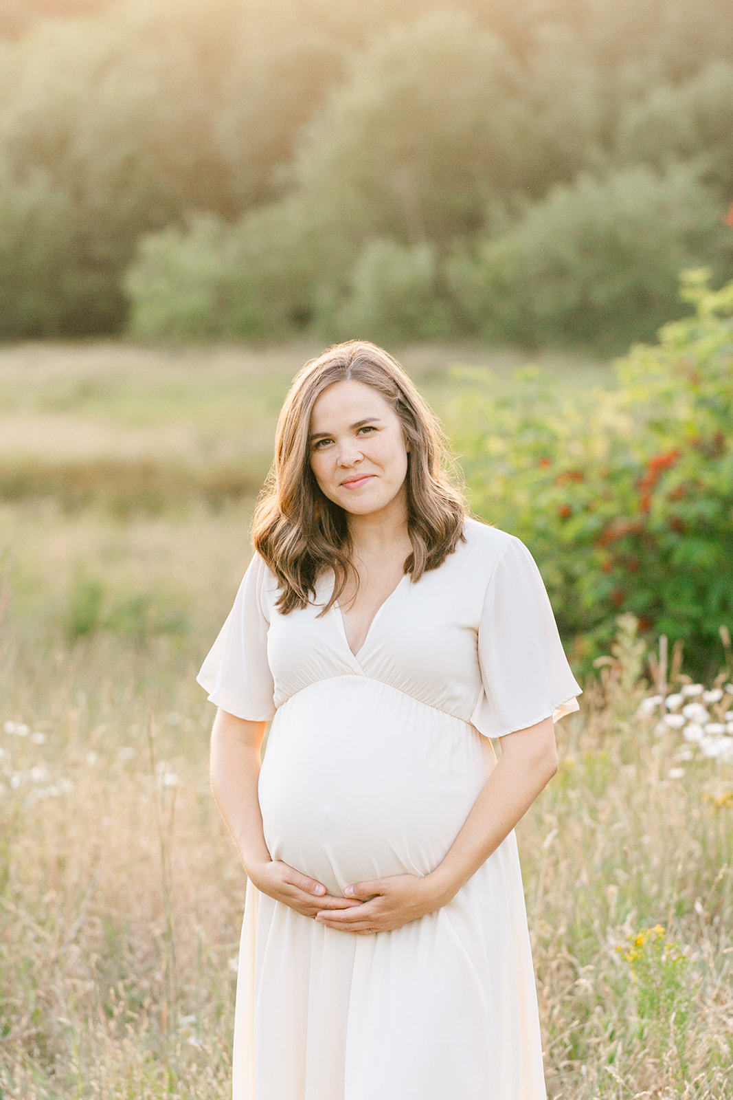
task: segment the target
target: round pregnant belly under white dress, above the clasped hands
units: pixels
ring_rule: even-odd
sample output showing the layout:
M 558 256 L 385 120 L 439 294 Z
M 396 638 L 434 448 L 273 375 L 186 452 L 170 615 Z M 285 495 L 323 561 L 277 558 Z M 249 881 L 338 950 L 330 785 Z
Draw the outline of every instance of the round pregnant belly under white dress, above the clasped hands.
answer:
M 259 778 L 267 847 L 330 893 L 427 875 L 492 762 L 470 725 L 393 688 L 363 676 L 312 684 L 273 722 Z

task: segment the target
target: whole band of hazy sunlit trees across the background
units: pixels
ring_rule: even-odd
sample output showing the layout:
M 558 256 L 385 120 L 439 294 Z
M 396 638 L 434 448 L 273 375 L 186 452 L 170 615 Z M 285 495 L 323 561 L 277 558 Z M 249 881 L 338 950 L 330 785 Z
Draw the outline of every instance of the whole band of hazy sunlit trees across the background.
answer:
M 0 336 L 603 349 L 733 274 L 726 0 L 0 0 Z

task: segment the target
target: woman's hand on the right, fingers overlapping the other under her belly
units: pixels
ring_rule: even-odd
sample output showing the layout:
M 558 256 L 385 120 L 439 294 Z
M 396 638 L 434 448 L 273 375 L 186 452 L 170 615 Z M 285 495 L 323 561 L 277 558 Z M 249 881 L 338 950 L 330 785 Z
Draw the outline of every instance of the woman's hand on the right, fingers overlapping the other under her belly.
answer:
M 346 898 L 355 898 L 362 904 L 354 905 L 353 909 L 322 910 L 315 920 L 327 928 L 360 935 L 393 932 L 445 903 L 430 875 L 425 878 L 419 875 L 390 875 L 370 882 L 356 882 L 346 887 L 344 894 Z

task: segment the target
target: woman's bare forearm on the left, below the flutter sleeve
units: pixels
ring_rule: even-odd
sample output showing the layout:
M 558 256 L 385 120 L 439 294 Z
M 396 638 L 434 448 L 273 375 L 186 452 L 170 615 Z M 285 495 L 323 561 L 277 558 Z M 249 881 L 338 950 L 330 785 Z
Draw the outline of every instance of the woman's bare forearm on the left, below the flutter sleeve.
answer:
M 265 726 L 220 710 L 211 732 L 211 789 L 247 873 L 270 859 L 257 796 Z

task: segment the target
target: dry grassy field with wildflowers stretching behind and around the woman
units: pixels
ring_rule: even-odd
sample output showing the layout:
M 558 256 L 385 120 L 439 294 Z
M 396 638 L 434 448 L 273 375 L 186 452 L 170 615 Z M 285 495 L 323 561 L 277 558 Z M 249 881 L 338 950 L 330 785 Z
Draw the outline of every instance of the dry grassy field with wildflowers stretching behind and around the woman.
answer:
M 315 351 L 0 352 L 3 1100 L 227 1096 L 244 876 L 193 678 Z M 451 365 L 510 386 L 521 356 L 403 361 L 449 425 Z M 644 675 L 626 623 L 519 829 L 554 1100 L 733 1097 L 733 765 L 641 713 Z

